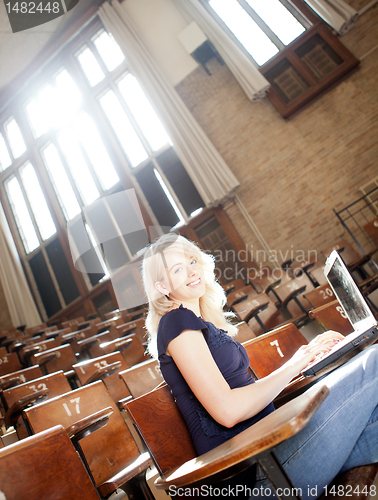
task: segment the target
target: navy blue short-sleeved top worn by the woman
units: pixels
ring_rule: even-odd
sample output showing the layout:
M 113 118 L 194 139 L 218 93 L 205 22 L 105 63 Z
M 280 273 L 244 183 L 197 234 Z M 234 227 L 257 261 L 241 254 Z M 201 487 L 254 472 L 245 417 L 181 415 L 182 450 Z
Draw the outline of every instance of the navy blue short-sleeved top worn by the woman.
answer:
M 232 428 L 224 427 L 214 420 L 194 396 L 172 357 L 165 354 L 169 342 L 184 330 L 202 331 L 210 352 L 231 389 L 253 384 L 254 379 L 248 369 L 246 350 L 224 330 L 197 317 L 182 305 L 161 318 L 157 334 L 160 369 L 189 428 L 196 451 L 202 455 L 271 413 L 274 406 L 270 403 L 254 417 L 239 422 Z

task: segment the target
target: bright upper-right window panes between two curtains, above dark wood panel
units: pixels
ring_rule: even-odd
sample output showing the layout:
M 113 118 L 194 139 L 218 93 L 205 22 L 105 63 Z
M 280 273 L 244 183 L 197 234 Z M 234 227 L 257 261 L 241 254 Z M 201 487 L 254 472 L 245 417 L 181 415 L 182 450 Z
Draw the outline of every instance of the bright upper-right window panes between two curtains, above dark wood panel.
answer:
M 262 66 L 309 23 L 287 0 L 203 0 Z

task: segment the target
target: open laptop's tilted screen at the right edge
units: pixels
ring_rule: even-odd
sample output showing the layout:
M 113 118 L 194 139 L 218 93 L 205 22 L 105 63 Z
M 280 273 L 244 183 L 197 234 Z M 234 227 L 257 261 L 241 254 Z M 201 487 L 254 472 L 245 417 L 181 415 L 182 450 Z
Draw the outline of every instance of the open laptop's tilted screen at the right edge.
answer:
M 329 268 L 326 274 L 328 282 L 333 288 L 353 328 L 359 330 L 376 324 L 375 318 L 365 299 L 336 251 L 331 253 L 327 264 L 326 270 Z

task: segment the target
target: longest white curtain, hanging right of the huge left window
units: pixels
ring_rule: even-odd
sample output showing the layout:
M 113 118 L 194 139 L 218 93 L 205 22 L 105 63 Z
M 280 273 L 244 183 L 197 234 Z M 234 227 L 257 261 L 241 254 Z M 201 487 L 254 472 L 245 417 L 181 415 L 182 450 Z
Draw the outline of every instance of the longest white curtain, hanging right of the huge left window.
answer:
M 206 206 L 221 203 L 232 195 L 238 180 L 161 73 L 118 0 L 104 3 L 99 16 L 122 48 L 130 71 L 150 98 Z

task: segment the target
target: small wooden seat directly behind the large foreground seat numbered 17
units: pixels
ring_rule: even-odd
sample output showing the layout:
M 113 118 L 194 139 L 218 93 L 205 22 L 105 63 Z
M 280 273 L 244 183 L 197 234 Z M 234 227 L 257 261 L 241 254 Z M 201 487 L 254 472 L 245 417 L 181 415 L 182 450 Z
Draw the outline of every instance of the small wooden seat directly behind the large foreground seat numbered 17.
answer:
M 107 376 L 106 368 L 114 365 L 114 363 L 119 363 L 117 371 L 112 375 Z M 127 370 L 129 365 L 118 351 L 111 354 L 105 354 L 104 356 L 100 356 L 98 358 L 82 361 L 81 363 L 73 365 L 72 368 L 75 370 L 76 376 L 82 385 L 86 385 L 88 380 L 103 380 L 109 394 L 116 403 L 121 399 L 130 396 L 129 390 L 119 378 L 119 372 Z M 101 372 L 105 372 L 103 376 Z

